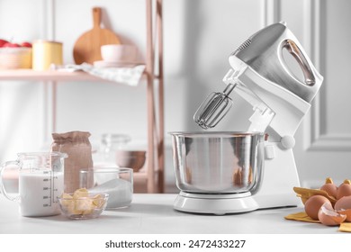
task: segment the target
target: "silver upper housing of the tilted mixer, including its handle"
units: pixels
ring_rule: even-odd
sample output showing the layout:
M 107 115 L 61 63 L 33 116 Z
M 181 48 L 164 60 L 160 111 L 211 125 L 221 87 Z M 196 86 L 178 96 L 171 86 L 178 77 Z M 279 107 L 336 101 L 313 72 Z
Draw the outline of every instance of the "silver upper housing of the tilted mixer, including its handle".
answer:
M 290 70 L 291 67 L 286 64 L 284 49 L 301 67 L 303 80 L 295 76 Z M 299 40 L 284 22 L 274 23 L 257 31 L 241 44 L 229 56 L 230 66 L 234 70 L 240 67 L 236 63 L 237 59 L 252 67 L 260 76 L 282 86 L 308 103 L 311 103 L 318 93 L 323 80 Z

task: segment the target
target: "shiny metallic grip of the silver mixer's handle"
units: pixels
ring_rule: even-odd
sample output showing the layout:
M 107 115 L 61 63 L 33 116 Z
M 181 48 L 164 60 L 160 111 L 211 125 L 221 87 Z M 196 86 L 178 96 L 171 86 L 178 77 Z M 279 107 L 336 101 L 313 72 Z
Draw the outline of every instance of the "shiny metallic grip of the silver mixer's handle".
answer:
M 305 85 L 314 85 L 316 83 L 316 78 L 310 67 L 308 59 L 304 56 L 302 50 L 293 40 L 285 40 L 284 48 L 287 49 L 291 55 L 293 55 L 293 58 L 296 59 L 302 68 L 303 76 L 305 78 Z

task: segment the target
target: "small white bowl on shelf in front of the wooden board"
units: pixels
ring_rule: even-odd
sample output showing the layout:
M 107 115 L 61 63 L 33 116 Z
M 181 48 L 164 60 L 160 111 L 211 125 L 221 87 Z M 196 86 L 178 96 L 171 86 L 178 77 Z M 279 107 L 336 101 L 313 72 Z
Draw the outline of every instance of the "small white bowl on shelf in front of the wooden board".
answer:
M 138 50 L 133 45 L 103 45 L 101 47 L 101 56 L 107 62 L 134 62 L 137 60 Z

